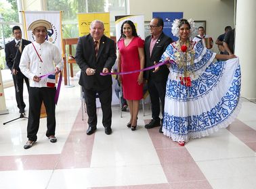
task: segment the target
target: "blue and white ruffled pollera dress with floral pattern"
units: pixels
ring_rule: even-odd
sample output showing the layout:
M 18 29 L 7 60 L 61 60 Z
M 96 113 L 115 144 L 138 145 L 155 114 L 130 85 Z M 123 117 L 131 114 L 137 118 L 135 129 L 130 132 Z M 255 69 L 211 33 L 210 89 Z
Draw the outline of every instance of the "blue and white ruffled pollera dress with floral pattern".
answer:
M 176 43 L 169 45 L 161 57 L 175 61 Z M 163 134 L 174 141 L 188 142 L 226 128 L 240 110 L 240 64 L 238 58 L 216 61 L 215 53 L 194 45 L 191 86 L 181 84 L 184 72 L 171 64 L 165 94 Z

